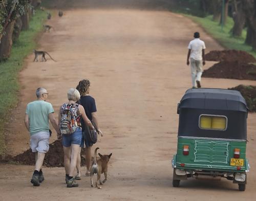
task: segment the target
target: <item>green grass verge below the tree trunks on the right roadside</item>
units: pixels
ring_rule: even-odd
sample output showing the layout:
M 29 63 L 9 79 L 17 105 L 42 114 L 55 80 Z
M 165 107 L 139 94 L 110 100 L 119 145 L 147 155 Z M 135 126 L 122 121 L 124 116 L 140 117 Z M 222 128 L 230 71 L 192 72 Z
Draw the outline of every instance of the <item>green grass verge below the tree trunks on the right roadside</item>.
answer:
M 215 38 L 221 46 L 226 49 L 242 50 L 256 57 L 256 52 L 252 51 L 252 47 L 244 43 L 246 38 L 246 30 L 243 30 L 242 36 L 234 38 L 230 34 L 230 30 L 233 27 L 232 18 L 228 17 L 226 25 L 221 30 L 219 22 L 212 20 L 212 15 L 207 17 L 195 17 L 192 15 L 185 15 L 191 18 L 195 23 L 199 24 L 209 35 Z M 207 44 L 206 44 L 207 46 Z

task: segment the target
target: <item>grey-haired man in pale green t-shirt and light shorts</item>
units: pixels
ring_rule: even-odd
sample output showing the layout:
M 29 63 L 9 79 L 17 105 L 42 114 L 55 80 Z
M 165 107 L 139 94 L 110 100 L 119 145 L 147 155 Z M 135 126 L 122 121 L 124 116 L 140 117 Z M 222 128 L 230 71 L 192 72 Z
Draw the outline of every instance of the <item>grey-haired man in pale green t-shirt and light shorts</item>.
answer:
M 45 88 L 37 88 L 37 100 L 30 102 L 26 108 L 25 125 L 30 133 L 30 148 L 35 152 L 35 170 L 31 179 L 34 186 L 40 186 L 44 181 L 42 164 L 45 154 L 49 150 L 49 120 L 52 126 L 59 132 L 58 124 L 53 116 L 54 109 L 51 103 L 46 102 L 48 92 Z M 59 135 L 57 136 L 60 137 Z

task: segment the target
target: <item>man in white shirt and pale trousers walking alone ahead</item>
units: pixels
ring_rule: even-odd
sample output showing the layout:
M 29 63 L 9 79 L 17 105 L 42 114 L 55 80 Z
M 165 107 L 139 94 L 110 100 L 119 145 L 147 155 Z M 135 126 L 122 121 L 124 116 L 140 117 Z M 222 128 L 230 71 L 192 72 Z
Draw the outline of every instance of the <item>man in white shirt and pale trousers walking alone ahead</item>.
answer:
M 200 81 L 203 73 L 203 65 L 205 65 L 205 44 L 204 41 L 199 39 L 199 32 L 194 33 L 194 38 L 195 39 L 191 40 L 188 44 L 187 65 L 189 65 L 190 58 L 192 86 L 193 88 L 200 88 Z

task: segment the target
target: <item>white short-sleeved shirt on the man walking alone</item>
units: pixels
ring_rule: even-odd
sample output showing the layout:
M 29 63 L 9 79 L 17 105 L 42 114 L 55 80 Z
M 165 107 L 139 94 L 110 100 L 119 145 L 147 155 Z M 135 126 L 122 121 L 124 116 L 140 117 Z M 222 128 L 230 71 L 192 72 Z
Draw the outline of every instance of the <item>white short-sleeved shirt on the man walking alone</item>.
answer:
M 188 44 L 188 49 L 191 50 L 190 58 L 193 58 L 195 60 L 202 60 L 202 50 L 205 49 L 205 44 L 203 40 L 200 40 L 199 38 L 195 38 L 194 40 L 191 40 Z

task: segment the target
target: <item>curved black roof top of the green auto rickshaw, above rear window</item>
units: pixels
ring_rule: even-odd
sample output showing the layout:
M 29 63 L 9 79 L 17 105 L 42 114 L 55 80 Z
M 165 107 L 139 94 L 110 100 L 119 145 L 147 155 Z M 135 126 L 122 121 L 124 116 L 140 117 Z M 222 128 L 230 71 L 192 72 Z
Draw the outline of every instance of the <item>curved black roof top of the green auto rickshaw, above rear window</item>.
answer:
M 179 108 L 247 112 L 245 99 L 240 92 L 220 88 L 191 88 L 182 97 Z

